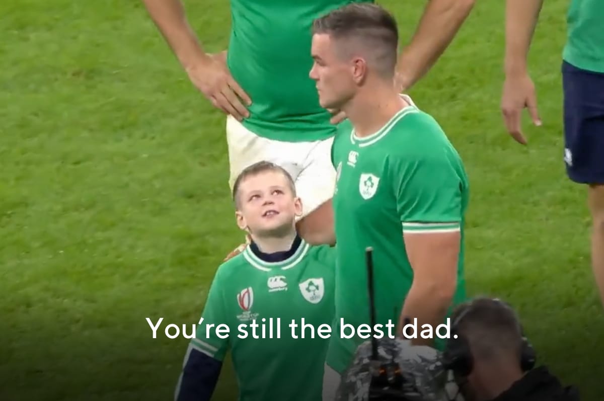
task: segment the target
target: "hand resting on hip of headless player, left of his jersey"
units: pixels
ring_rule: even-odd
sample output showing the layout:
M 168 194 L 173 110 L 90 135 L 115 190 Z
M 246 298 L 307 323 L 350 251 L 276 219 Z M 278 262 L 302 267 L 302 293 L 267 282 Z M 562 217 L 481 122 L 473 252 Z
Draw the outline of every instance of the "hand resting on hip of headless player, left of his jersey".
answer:
M 207 54 L 201 62 L 187 68 L 186 71 L 193 85 L 212 102 L 214 107 L 233 115 L 239 121 L 249 117 L 246 106 L 249 106 L 252 101 L 231 76 L 226 66 L 226 51 Z

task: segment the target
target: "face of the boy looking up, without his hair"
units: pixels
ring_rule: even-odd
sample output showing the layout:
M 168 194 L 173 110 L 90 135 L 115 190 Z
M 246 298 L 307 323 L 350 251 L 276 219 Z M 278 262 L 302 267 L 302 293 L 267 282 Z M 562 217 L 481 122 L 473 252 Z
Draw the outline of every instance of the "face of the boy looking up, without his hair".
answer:
M 281 237 L 294 229 L 302 213 L 288 179 L 280 172 L 262 172 L 246 178 L 239 187 L 237 225 L 252 236 Z

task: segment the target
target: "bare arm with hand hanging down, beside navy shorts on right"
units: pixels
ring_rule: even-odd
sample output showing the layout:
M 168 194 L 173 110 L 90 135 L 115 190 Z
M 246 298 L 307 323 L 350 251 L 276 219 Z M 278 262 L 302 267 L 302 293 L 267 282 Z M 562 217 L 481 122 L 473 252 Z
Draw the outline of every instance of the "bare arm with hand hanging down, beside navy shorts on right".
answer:
M 528 75 L 528 48 L 535 33 L 543 0 L 507 0 L 506 2 L 506 80 L 501 96 L 501 112 L 510 135 L 521 144 L 527 141 L 520 128 L 524 107 L 536 126 L 541 125 L 535 85 Z

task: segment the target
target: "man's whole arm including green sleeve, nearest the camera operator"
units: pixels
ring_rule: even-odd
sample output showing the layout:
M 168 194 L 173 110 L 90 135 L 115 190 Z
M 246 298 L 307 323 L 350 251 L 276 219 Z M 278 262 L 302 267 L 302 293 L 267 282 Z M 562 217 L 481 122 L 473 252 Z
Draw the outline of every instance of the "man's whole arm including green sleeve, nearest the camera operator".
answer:
M 442 324 L 457 289 L 465 184 L 450 159 L 426 154 L 432 147 L 442 148 L 409 149 L 408 154 L 390 161 L 403 242 L 413 269 L 413 283 L 400 313 L 399 335 L 406 318 L 417 319 L 419 332 L 424 324 L 433 329 Z M 433 339 L 412 342 L 432 345 Z

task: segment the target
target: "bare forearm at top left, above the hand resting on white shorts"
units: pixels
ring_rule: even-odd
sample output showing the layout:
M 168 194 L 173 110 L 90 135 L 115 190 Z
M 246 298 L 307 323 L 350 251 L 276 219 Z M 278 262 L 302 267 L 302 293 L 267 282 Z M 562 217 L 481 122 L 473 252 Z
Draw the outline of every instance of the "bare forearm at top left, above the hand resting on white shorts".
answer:
M 207 61 L 208 56 L 188 24 L 180 0 L 143 0 L 143 2 L 156 27 L 185 69 Z

